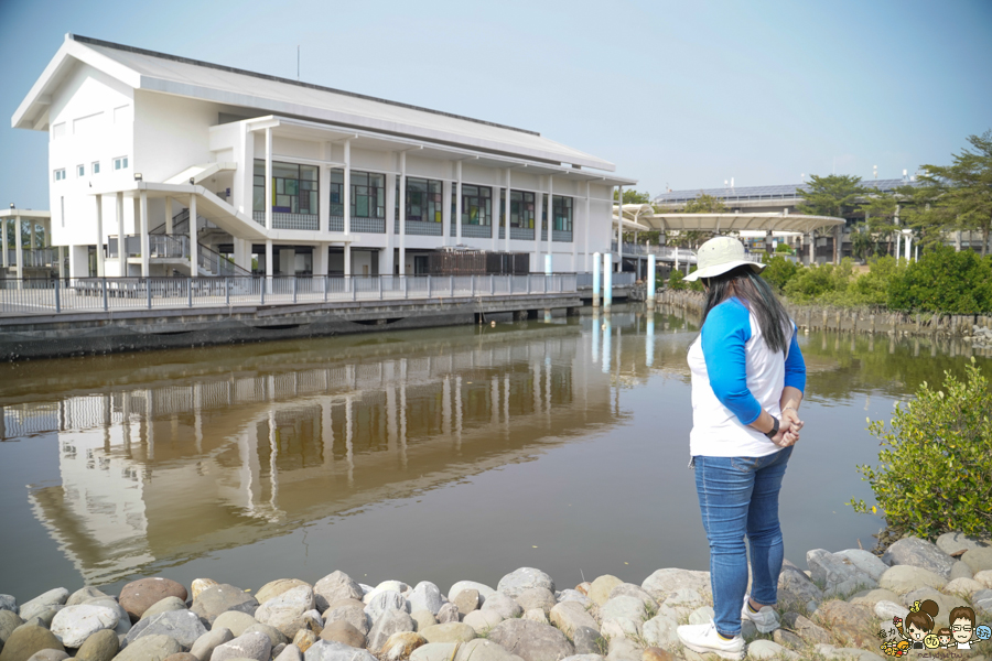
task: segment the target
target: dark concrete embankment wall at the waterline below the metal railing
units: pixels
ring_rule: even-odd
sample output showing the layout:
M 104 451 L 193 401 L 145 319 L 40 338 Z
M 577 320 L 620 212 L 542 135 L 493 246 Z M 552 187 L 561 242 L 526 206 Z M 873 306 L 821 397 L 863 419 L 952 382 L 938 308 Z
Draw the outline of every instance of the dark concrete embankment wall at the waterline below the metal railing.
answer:
M 571 293 L 7 316 L 0 317 L 0 360 L 510 321 L 581 305 Z

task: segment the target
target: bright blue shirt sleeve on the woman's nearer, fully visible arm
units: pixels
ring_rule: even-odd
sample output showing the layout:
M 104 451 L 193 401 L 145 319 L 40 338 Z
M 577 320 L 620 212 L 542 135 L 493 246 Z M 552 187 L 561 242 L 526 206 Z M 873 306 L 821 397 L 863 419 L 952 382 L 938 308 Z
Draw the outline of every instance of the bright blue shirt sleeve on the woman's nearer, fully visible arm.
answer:
M 700 336 L 713 394 L 743 424 L 751 424 L 762 414 L 747 389 L 744 345 L 751 339 L 751 313 L 737 301 L 721 303 L 710 311 Z

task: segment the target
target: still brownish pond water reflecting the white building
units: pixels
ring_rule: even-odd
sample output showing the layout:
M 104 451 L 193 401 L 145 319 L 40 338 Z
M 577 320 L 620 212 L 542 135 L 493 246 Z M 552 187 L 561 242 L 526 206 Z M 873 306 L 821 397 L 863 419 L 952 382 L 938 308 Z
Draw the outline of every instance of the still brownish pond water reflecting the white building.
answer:
M 2 365 L 0 593 L 708 568 L 687 468 L 696 334 L 681 312 L 630 308 Z M 882 523 L 844 505 L 871 496 L 865 418 L 968 359 L 884 336 L 800 345 L 781 520 L 805 566 L 808 549 L 871 548 Z

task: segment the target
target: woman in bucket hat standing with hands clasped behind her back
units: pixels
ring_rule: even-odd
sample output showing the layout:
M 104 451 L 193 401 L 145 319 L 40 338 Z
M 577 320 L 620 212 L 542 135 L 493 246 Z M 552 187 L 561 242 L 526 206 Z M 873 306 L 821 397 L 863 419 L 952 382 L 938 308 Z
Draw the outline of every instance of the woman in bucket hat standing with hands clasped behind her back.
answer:
M 772 608 L 783 561 L 778 491 L 802 429 L 806 366 L 795 324 L 758 275 L 764 266 L 745 260 L 741 241 L 710 239 L 698 259 L 699 270 L 686 279 L 701 280 L 707 290 L 702 329 L 689 348 L 689 445 L 710 543 L 715 618 L 681 626 L 678 635 L 693 651 L 741 659 L 743 619 L 763 633 L 778 628 Z

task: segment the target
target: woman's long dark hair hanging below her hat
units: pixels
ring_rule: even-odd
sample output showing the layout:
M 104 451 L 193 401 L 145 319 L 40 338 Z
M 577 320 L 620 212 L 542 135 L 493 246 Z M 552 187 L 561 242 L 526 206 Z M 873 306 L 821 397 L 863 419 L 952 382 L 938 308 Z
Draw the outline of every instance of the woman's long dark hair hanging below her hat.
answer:
M 703 308 L 703 324 L 710 311 L 736 296 L 757 317 L 765 344 L 773 351 L 786 353 L 791 342 L 792 323 L 789 314 L 778 302 L 775 292 L 751 267 L 743 264 L 714 278 L 701 279 L 707 285 L 707 306 Z

